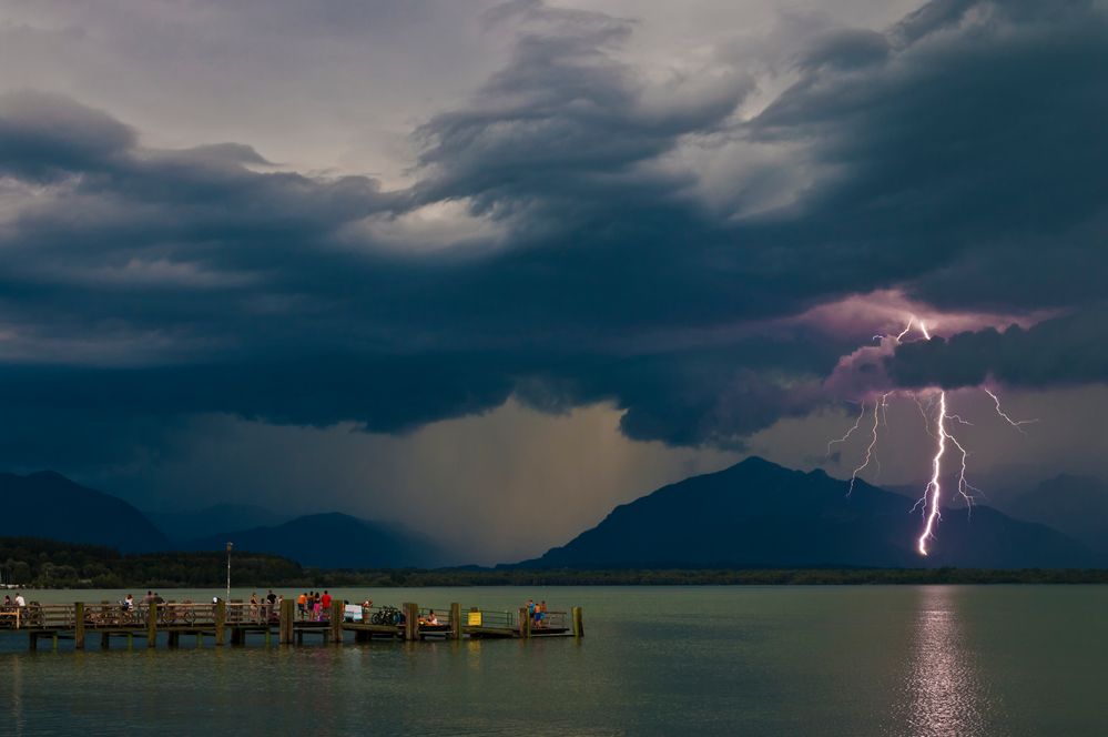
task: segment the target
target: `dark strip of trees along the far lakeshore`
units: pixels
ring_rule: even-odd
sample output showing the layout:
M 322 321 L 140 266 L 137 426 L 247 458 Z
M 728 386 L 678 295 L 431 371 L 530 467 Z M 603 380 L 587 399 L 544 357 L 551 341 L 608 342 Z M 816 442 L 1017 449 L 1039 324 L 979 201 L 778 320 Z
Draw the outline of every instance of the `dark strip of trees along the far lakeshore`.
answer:
M 1102 568 L 665 568 L 539 569 L 459 567 L 322 569 L 264 553 L 235 551 L 238 585 L 367 586 L 776 586 L 911 584 L 1108 584 Z M 27 588 L 209 588 L 226 582 L 226 554 L 121 554 L 111 547 L 0 537 L 0 582 Z

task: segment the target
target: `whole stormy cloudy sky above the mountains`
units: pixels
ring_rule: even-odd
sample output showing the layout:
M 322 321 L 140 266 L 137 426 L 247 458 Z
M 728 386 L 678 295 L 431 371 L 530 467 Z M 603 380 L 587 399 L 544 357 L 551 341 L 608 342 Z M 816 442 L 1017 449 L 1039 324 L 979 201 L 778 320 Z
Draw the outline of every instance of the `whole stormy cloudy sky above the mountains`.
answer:
M 881 396 L 871 481 L 939 390 L 989 493 L 1108 476 L 1105 69 L 1094 1 L 7 0 L 0 466 L 481 562 Z

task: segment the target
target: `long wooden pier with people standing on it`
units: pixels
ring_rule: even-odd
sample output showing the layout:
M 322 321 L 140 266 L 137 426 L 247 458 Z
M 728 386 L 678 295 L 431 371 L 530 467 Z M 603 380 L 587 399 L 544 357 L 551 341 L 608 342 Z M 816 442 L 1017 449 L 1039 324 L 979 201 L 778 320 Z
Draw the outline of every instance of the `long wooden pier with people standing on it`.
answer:
M 231 645 L 245 645 L 247 636 L 264 637 L 266 644 L 279 645 L 302 645 L 305 637 L 343 644 L 346 633 L 354 633 L 355 643 L 585 636 L 580 607 L 570 613 L 547 612 L 542 622 L 536 624 L 523 608 L 515 612 L 462 609 L 458 603 L 426 609 L 415 603 L 405 603 L 397 608 L 350 606 L 336 600 L 318 619 L 302 616 L 293 599 L 279 604 L 279 607 L 271 607 L 223 600 L 212 604 L 167 602 L 128 610 L 108 602 L 31 602 L 26 607 L 0 613 L 3 615 L 0 616 L 0 630 L 26 632 L 32 650 L 38 649 L 42 639 L 50 640 L 54 649 L 61 639 L 72 639 L 77 649 L 84 649 L 90 635 L 100 636 L 102 648 L 110 647 L 113 638 L 125 638 L 128 647 L 133 647 L 136 639 L 144 640 L 146 647 L 156 647 L 162 635 L 169 647 L 180 647 L 182 637 L 196 647 L 209 640 L 222 646 L 228 638 Z

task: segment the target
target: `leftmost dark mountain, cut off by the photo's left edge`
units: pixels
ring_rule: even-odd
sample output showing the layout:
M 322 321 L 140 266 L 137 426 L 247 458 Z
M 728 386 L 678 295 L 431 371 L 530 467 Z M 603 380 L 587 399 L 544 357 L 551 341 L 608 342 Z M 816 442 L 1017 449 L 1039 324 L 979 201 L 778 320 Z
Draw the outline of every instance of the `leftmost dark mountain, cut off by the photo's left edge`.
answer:
M 106 545 L 124 553 L 163 551 L 165 536 L 123 499 L 52 471 L 0 473 L 0 536 Z

